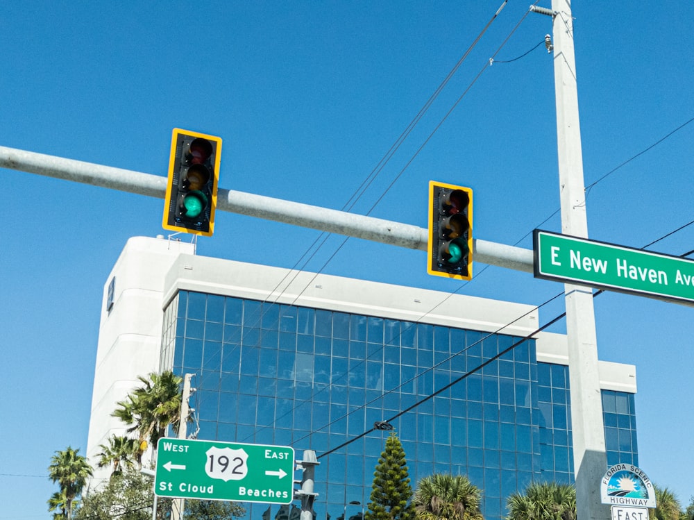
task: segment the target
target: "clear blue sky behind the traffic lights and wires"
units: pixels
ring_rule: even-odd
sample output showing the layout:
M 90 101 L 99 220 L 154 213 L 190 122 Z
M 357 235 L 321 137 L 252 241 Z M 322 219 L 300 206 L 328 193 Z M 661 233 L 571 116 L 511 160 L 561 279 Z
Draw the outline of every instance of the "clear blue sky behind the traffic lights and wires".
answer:
M 473 187 L 477 238 L 530 249 L 533 228 L 561 229 L 545 221 L 559 208 L 552 56 L 541 45 L 502 62 L 551 19 L 525 17 L 489 66 L 529 3 L 509 1 L 355 212 L 425 227 L 436 179 Z M 188 128 L 223 138 L 221 187 L 339 209 L 500 5 L 5 1 L 0 145 L 165 176 L 171 128 Z M 693 219 L 694 123 L 645 150 L 694 117 L 694 4 L 580 1 L 573 15 L 586 185 L 602 178 L 589 233 L 641 247 Z M 0 520 L 48 519 L 51 455 L 87 442 L 103 284 L 128 237 L 164 233 L 163 203 L 0 178 Z M 318 235 L 220 212 L 198 252 L 292 267 Z M 328 261 L 342 242 L 305 269 L 532 304 L 563 288 L 480 264 L 462 286 L 428 276 L 421 251 L 355 239 Z M 694 226 L 650 249 L 691 251 Z M 541 322 L 563 310 L 543 307 Z M 693 310 L 611 293 L 595 316 L 600 358 L 636 365 L 639 465 L 687 505 Z

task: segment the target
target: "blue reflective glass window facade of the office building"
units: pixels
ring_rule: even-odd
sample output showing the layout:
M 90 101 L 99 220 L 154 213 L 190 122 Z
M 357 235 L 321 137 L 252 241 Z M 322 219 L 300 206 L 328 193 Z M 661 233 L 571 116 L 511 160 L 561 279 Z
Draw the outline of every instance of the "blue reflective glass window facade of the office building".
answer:
M 534 340 L 180 291 L 162 345 L 161 369 L 195 374 L 198 438 L 316 451 L 319 519 L 366 508 L 389 433 L 363 434 L 379 421 L 400 438 L 413 488 L 465 474 L 487 519 L 533 481 L 573 481 L 568 367 L 537 362 Z M 608 463 L 638 464 L 634 394 L 602 398 Z

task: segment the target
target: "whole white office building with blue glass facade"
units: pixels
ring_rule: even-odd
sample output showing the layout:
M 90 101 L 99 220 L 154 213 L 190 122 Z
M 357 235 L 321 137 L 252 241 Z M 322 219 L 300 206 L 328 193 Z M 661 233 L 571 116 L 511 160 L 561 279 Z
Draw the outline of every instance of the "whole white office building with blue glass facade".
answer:
M 115 403 L 138 376 L 194 374 L 198 439 L 314 450 L 317 520 L 359 520 L 393 426 L 412 487 L 464 473 L 486 519 L 528 483 L 573 480 L 566 336 L 532 305 L 207 258 L 128 241 L 103 288 L 87 457 L 124 435 Z M 498 358 L 497 358 L 498 356 Z M 599 362 L 607 462 L 638 464 L 635 369 Z M 606 468 L 607 469 L 607 468 Z M 296 478 L 301 478 L 297 471 Z M 294 520 L 296 505 L 248 505 Z

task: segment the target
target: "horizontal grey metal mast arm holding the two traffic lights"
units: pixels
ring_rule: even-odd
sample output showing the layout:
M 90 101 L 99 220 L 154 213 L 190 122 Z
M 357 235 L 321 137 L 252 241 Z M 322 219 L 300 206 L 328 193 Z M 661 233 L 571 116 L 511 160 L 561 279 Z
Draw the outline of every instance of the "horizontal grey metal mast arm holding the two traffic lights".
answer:
M 0 167 L 26 171 L 66 181 L 101 186 L 164 199 L 167 178 L 91 162 L 46 156 L 43 153 L 0 146 Z M 422 193 L 426 187 L 422 186 Z M 285 224 L 318 229 L 383 244 L 427 250 L 428 230 L 344 211 L 319 208 L 298 202 L 271 199 L 262 195 L 223 190 L 217 194 L 217 210 L 259 217 Z M 424 210 L 424 208 L 423 208 Z M 162 208 L 163 211 L 163 208 Z M 423 215 L 425 212 L 423 211 Z M 532 250 L 485 240 L 473 240 L 475 262 L 532 273 Z

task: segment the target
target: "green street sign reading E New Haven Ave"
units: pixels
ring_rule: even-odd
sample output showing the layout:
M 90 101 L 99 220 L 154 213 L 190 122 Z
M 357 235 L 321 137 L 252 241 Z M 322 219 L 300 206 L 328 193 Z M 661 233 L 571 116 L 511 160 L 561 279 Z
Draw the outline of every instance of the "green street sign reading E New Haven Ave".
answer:
M 694 260 L 536 229 L 535 278 L 694 303 Z

